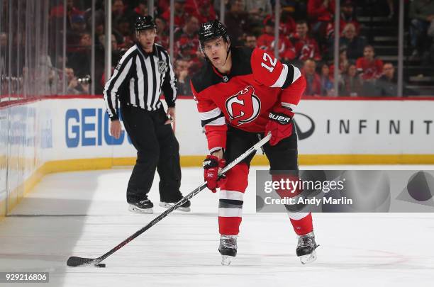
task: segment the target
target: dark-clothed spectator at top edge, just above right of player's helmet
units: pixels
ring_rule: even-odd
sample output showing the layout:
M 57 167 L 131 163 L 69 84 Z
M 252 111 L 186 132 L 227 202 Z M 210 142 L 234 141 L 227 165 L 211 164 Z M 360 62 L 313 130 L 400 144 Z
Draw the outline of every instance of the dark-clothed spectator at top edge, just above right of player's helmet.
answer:
M 248 13 L 244 7 L 243 0 L 230 0 L 230 10 L 225 16 L 225 24 L 233 46 L 243 45 L 244 34 L 250 32 Z

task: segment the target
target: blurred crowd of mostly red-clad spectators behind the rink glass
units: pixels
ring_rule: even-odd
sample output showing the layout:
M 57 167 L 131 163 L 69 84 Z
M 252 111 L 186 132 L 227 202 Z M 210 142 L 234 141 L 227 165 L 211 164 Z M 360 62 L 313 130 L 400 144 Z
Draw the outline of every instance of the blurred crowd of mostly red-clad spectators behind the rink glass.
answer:
M 174 0 L 174 57 L 179 94 L 191 95 L 189 79 L 204 63 L 199 50 L 198 30 L 201 23 L 220 16 L 224 1 L 224 23 L 228 27 L 232 45 L 260 47 L 274 52 L 275 0 Z M 383 1 L 394 17 L 393 0 Z M 282 0 L 278 23 L 277 51 L 282 62 L 301 68 L 307 79 L 306 96 L 396 96 L 397 77 L 394 63 L 383 61 L 362 33 L 357 21 L 357 5 L 365 1 L 340 1 L 340 29 L 334 29 L 335 0 Z M 50 7 L 50 26 L 60 27 L 63 21 L 63 1 Z M 62 77 L 62 62 L 67 69 L 67 93 L 89 94 L 94 81 L 95 94 L 104 87 L 105 7 L 96 1 L 91 13 L 91 1 L 67 0 L 67 59 L 58 53 L 50 57 L 53 67 L 50 77 Z M 169 49 L 169 1 L 155 1 L 155 11 L 148 10 L 147 0 L 112 1 L 111 66 L 134 45 L 134 22 L 137 16 L 148 13 L 157 24 L 156 42 Z M 412 57 L 434 55 L 434 1 L 413 0 L 409 21 Z M 93 18 L 92 18 L 93 17 Z M 95 79 L 91 74 L 91 23 L 95 22 Z M 339 67 L 334 67 L 334 38 L 339 33 Z M 0 34 L 0 43 L 6 40 Z M 3 45 L 3 44 L 1 44 Z M 428 59 L 429 61 L 430 59 Z M 1 64 L 1 63 L 0 63 Z M 338 79 L 334 70 L 339 69 Z M 338 91 L 335 91 L 338 81 Z

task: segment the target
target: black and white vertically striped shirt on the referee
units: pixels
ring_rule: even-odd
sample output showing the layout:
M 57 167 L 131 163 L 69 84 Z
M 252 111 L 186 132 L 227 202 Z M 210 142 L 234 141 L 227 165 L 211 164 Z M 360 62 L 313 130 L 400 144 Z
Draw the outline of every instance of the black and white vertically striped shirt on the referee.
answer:
M 116 120 L 117 99 L 126 105 L 155 111 L 161 107 L 161 92 L 167 106 L 174 107 L 177 85 L 169 54 L 160 45 L 154 44 L 148 53 L 136 43 L 123 55 L 106 82 L 104 101 L 111 120 Z

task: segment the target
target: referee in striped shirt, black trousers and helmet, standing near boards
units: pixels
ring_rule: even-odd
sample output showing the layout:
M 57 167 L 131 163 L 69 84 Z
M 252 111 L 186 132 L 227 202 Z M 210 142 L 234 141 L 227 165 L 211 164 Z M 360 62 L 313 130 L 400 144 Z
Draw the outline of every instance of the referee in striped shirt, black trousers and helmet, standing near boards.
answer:
M 155 169 L 160 175 L 160 206 L 169 208 L 182 198 L 179 144 L 171 125 L 175 119 L 176 79 L 169 55 L 154 43 L 155 29 L 151 16 L 136 19 L 137 43 L 123 55 L 104 87 L 111 135 L 121 135 L 119 101 L 123 125 L 137 150 L 126 196 L 129 210 L 137 213 L 152 213 L 154 205 L 148 192 Z M 167 113 L 160 101 L 161 92 L 165 94 Z M 190 202 L 178 209 L 189 211 Z

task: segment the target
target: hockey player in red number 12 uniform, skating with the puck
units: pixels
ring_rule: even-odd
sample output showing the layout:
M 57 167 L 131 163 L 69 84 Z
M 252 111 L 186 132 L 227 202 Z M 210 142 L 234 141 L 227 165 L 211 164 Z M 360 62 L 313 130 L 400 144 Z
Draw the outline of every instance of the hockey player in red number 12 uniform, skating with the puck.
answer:
M 204 178 L 211 191 L 220 187 L 218 226 L 222 264 L 237 254 L 243 193 L 253 154 L 218 179 L 218 169 L 245 152 L 258 138 L 271 133 L 264 152 L 272 171 L 298 170 L 294 108 L 306 87 L 299 69 L 282 64 L 271 53 L 250 47 L 231 47 L 226 27 L 210 21 L 199 29 L 201 52 L 207 60 L 191 79 L 210 154 Z M 316 259 L 311 213 L 289 213 L 303 264 Z

